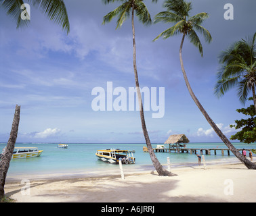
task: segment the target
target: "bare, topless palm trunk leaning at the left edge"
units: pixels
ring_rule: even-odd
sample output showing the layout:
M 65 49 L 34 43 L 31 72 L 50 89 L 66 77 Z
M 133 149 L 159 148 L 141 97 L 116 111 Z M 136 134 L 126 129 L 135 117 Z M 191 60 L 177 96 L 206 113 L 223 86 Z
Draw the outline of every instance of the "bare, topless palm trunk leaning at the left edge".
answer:
M 5 147 L 5 152 L 1 156 L 0 162 L 0 198 L 3 198 L 5 191 L 5 178 L 7 175 L 7 171 L 9 169 L 9 161 L 12 159 L 12 153 L 14 152 L 14 146 L 16 143 L 18 128 L 20 123 L 20 106 L 16 105 L 15 113 L 14 113 L 14 121 L 12 122 L 12 130 L 9 134 L 9 140 L 7 142 L 7 146 Z

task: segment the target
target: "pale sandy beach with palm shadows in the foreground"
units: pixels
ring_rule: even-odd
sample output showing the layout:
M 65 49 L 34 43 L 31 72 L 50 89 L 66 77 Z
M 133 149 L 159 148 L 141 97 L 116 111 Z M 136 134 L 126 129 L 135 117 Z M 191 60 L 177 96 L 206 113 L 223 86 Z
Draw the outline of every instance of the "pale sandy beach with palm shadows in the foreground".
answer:
M 256 170 L 240 163 L 176 168 L 173 177 L 124 171 L 125 180 L 110 174 L 7 179 L 5 194 L 16 202 L 256 202 Z

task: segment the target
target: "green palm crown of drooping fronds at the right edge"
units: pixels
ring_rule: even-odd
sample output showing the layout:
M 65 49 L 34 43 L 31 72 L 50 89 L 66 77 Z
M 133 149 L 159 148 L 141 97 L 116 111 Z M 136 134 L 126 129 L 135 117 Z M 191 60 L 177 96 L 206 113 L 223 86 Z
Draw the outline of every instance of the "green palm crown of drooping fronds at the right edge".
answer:
M 244 104 L 249 91 L 253 92 L 256 111 L 256 32 L 253 38 L 233 43 L 219 55 L 221 70 L 217 73 L 215 94 L 221 97 L 232 87 L 238 87 L 239 100 Z

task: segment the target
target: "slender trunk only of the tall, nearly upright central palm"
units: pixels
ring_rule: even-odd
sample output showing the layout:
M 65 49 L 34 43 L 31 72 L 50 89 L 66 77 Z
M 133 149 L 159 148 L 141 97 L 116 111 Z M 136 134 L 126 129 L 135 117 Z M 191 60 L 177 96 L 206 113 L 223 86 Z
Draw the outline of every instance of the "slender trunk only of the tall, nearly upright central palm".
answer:
M 133 28 L 133 68 L 134 68 L 134 75 L 135 75 L 135 84 L 137 89 L 137 97 L 140 105 L 140 120 L 142 122 L 142 130 L 144 134 L 144 138 L 146 140 L 146 145 L 148 147 L 148 152 L 150 154 L 150 158 L 152 160 L 152 163 L 154 165 L 154 168 L 156 169 L 158 175 L 175 175 L 174 173 L 171 173 L 163 168 L 161 163 L 158 161 L 156 155 L 154 154 L 154 150 L 152 148 L 150 138 L 148 136 L 148 130 L 146 128 L 146 122 L 144 117 L 144 110 L 142 105 L 142 94 L 140 92 L 140 84 L 139 84 L 139 78 L 137 76 L 137 64 L 136 64 L 136 45 L 135 45 L 135 28 L 134 28 L 134 9 L 132 9 L 132 15 L 131 15 L 131 25 Z

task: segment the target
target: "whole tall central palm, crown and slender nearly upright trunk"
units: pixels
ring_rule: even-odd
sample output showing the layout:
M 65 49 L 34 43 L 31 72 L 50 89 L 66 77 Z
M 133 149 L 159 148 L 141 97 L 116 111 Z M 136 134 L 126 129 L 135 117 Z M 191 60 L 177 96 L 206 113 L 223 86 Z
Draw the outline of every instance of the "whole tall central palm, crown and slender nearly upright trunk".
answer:
M 151 23 L 151 18 L 150 14 L 148 12 L 148 9 L 144 2 L 142 0 L 104 0 L 104 3 L 110 3 L 114 1 L 121 1 L 122 4 L 108 13 L 106 16 L 104 16 L 104 21 L 103 24 L 106 22 L 110 22 L 112 18 L 116 17 L 118 18 L 117 20 L 117 26 L 116 29 L 121 27 L 123 22 L 129 18 L 131 15 L 131 26 L 132 26 L 132 32 L 133 32 L 133 69 L 134 69 L 134 75 L 135 75 L 135 84 L 136 84 L 136 89 L 137 89 L 137 95 L 138 95 L 138 101 L 140 104 L 140 119 L 142 122 L 142 130 L 144 133 L 144 138 L 146 140 L 146 145 L 148 147 L 148 151 L 150 154 L 150 158 L 152 160 L 152 163 L 158 172 L 158 175 L 175 175 L 166 169 L 163 168 L 161 163 L 158 161 L 156 155 L 154 154 L 150 138 L 148 136 L 148 130 L 146 128 L 146 122 L 145 122 L 145 117 L 144 117 L 144 110 L 143 110 L 143 105 L 142 105 L 142 94 L 140 92 L 140 84 L 139 84 L 139 78 L 137 76 L 137 63 L 136 63 L 136 46 L 135 46 L 135 28 L 134 28 L 134 14 L 136 13 L 136 16 L 139 18 L 139 20 L 143 24 L 150 24 Z M 157 0 L 152 0 L 152 1 L 157 1 Z

